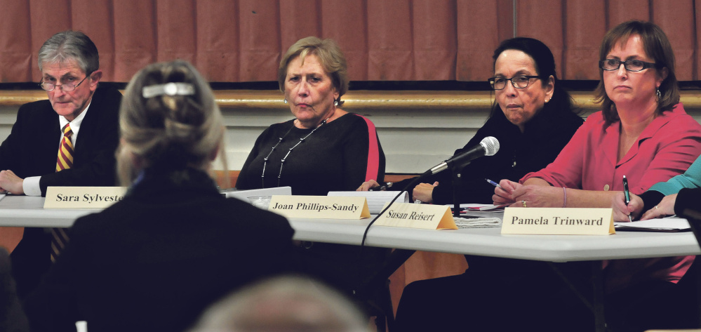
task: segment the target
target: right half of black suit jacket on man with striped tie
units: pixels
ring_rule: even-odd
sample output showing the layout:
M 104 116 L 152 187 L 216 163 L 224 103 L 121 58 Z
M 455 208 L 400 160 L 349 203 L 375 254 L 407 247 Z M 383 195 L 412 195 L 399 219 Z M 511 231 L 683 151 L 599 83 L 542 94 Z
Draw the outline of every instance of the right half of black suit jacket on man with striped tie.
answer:
M 41 174 L 41 195 L 49 186 L 116 185 L 116 159 L 119 144 L 119 103 L 114 88 L 98 88 L 81 124 L 73 156 L 73 168 Z M 58 138 L 56 143 L 58 152 Z M 55 159 L 55 157 L 54 157 Z

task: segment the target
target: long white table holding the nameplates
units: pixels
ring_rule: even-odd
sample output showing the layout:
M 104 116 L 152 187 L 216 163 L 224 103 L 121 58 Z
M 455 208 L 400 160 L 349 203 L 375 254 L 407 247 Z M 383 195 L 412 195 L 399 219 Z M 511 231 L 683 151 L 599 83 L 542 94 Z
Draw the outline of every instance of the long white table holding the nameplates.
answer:
M 70 227 L 76 218 L 100 209 L 44 209 L 43 197 L 8 196 L 0 200 L 0 226 Z M 291 218 L 294 239 L 361 244 L 370 222 Z M 499 227 L 462 230 L 416 230 L 370 227 L 367 246 L 441 253 L 567 262 L 699 255 L 692 232 L 617 232 L 613 235 L 502 235 Z

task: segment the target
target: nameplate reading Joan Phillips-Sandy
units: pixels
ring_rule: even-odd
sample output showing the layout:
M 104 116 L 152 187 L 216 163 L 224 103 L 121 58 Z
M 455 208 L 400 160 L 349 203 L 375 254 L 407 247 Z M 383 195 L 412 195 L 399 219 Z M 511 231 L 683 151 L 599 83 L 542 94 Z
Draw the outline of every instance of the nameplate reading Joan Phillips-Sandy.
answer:
M 277 196 L 268 211 L 286 218 L 361 219 L 370 218 L 365 197 Z

